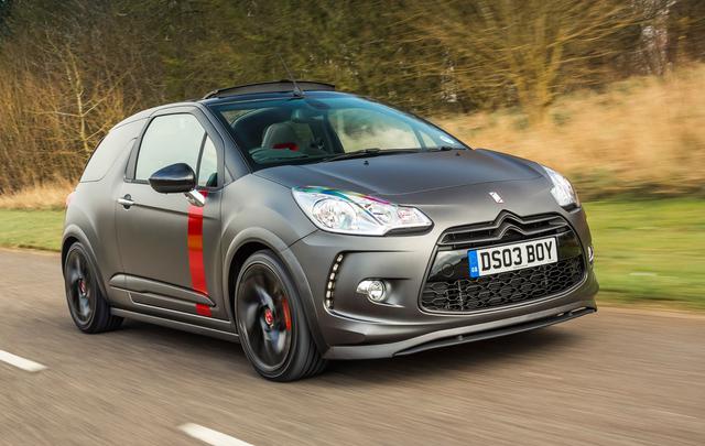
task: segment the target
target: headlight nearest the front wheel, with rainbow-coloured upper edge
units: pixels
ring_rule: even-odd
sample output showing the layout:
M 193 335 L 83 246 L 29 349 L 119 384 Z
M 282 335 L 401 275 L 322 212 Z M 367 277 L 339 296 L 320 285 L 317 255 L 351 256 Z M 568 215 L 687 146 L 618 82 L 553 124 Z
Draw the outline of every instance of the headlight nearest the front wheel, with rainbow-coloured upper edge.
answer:
M 383 236 L 394 229 L 429 228 L 432 221 L 415 207 L 327 187 L 294 187 L 294 199 L 318 228 L 339 233 Z

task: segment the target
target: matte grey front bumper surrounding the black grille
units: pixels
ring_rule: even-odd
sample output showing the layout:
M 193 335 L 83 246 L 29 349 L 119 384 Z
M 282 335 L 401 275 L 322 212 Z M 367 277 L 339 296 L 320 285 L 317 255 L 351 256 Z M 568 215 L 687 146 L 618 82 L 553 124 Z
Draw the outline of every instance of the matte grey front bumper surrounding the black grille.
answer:
M 547 195 L 547 194 L 546 194 Z M 568 221 L 583 249 L 585 275 L 570 290 L 532 301 L 479 308 L 465 313 L 434 313 L 420 305 L 421 290 L 445 229 L 457 225 L 456 215 L 444 218 L 443 206 L 423 209 L 434 220 L 430 231 L 394 237 L 355 237 L 316 231 L 290 247 L 305 280 L 299 284 L 308 296 L 308 316 L 319 348 L 330 359 L 388 358 L 430 348 L 467 342 L 556 324 L 596 311 L 598 285 L 587 247 L 592 239 L 582 209 L 556 209 L 554 202 L 530 203 L 518 215 L 557 213 Z M 457 209 L 448 206 L 447 209 Z M 486 209 L 475 221 L 491 221 L 501 209 Z M 444 224 L 445 222 L 445 224 Z M 338 255 L 344 260 L 336 274 L 333 305 L 326 306 L 330 268 Z M 389 297 L 372 303 L 356 293 L 366 279 L 383 279 Z M 322 344 L 322 345 L 321 345 Z

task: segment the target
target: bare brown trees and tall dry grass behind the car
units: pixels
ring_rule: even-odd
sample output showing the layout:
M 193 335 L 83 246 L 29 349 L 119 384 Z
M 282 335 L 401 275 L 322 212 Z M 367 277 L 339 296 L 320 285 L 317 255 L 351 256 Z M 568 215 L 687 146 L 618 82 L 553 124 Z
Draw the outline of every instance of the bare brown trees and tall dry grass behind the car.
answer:
M 702 0 L 0 0 L 0 195 L 65 196 L 116 122 L 279 55 L 585 197 L 704 192 Z

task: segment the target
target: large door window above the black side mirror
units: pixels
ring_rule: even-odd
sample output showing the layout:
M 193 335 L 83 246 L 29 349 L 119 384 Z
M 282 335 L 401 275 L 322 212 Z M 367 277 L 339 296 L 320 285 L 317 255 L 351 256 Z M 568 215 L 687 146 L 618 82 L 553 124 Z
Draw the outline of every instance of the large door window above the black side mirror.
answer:
M 134 180 L 148 180 L 154 172 L 186 163 L 196 172 L 205 130 L 192 115 L 166 115 L 152 120 L 142 137 Z

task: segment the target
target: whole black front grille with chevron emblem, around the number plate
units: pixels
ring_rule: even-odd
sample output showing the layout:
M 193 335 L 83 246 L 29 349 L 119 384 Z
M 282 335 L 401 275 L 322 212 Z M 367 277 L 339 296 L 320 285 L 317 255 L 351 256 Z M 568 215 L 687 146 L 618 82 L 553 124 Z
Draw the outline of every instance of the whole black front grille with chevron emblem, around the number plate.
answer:
M 556 263 L 482 278 L 469 275 L 467 251 L 555 237 Z M 438 241 L 420 305 L 429 312 L 473 312 L 547 297 L 577 285 L 585 275 L 583 249 L 556 214 L 519 217 L 502 211 L 495 221 L 452 228 Z

